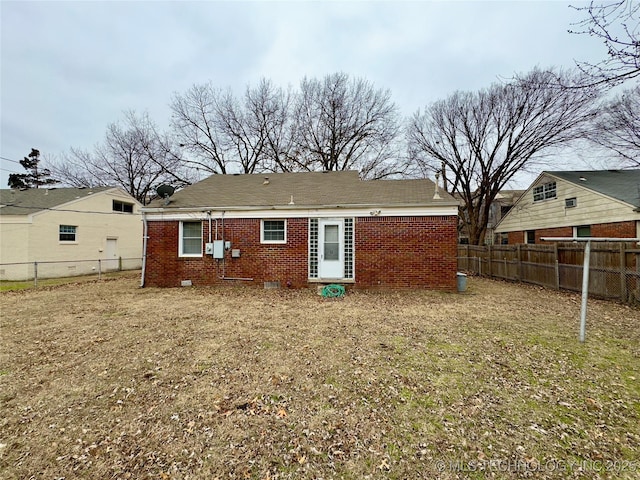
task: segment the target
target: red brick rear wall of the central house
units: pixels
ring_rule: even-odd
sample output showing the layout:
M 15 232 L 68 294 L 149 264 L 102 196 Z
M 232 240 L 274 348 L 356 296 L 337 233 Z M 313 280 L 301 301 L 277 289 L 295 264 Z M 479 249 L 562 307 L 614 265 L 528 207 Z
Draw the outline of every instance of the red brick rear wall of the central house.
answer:
M 203 243 L 208 222 L 203 221 Z M 224 263 L 209 255 L 178 257 L 179 222 L 148 222 L 145 285 L 180 286 L 225 282 L 225 277 L 253 278 L 249 284 L 279 281 L 282 287 L 308 285 L 308 226 L 304 218 L 287 219 L 286 244 L 261 244 L 260 219 L 224 222 L 224 240 L 240 249 L 225 252 Z M 215 240 L 215 221 L 212 238 Z M 222 222 L 218 233 L 223 238 Z M 457 217 L 363 217 L 355 220 L 357 287 L 429 287 L 455 290 Z M 203 246 L 204 249 L 204 246 Z M 224 269 L 223 269 L 224 267 Z

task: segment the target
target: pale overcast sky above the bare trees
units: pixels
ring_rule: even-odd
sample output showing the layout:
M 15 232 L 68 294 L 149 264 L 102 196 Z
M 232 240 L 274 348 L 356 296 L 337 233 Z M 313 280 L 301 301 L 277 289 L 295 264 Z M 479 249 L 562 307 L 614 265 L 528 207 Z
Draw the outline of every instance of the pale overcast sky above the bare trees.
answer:
M 405 115 L 535 66 L 599 60 L 567 32 L 584 14 L 546 1 L 0 1 L 0 188 L 32 147 L 91 148 L 125 110 L 169 125 L 173 92 L 345 72 Z

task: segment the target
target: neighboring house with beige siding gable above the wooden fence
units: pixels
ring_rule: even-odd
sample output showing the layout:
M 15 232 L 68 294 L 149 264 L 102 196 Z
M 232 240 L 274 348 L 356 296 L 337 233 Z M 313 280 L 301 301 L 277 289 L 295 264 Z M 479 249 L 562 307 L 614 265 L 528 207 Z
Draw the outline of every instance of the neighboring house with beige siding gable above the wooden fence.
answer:
M 496 232 L 510 244 L 543 237 L 640 236 L 640 170 L 543 172 Z

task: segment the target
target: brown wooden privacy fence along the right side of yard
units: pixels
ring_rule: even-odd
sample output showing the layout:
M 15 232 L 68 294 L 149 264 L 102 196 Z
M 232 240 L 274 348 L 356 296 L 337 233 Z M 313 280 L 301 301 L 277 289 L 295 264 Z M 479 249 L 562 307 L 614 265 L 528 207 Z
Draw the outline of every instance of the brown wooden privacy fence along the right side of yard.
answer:
M 582 291 L 584 243 L 458 245 L 458 269 L 504 280 Z M 640 249 L 634 242 L 593 243 L 589 295 L 640 303 Z

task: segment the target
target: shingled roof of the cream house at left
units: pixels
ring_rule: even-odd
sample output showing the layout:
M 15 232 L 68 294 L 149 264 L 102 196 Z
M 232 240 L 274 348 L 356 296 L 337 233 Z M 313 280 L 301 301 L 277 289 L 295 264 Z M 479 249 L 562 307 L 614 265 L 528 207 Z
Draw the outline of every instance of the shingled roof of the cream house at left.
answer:
M 78 198 L 111 190 L 96 188 L 29 188 L 27 190 L 0 189 L 0 215 L 29 215 L 59 207 Z

